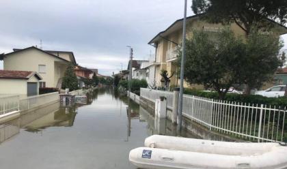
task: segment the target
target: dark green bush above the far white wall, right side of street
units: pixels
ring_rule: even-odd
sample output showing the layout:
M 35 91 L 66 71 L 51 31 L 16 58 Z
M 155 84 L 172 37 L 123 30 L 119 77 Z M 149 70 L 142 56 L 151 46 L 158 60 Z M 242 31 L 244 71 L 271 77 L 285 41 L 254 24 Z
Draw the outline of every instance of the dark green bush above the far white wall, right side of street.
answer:
M 124 89 L 128 90 L 128 80 L 120 80 L 120 86 L 123 87 Z M 140 89 L 141 88 L 147 88 L 148 87 L 148 82 L 146 80 L 138 80 L 138 79 L 133 79 L 131 80 L 131 92 L 139 95 L 140 94 Z

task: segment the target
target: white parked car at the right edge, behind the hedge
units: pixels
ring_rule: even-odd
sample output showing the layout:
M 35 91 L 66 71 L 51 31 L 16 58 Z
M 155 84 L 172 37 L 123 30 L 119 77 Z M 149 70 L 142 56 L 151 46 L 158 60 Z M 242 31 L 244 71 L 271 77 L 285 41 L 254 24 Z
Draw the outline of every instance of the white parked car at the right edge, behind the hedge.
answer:
M 275 87 L 271 87 L 264 91 L 256 91 L 256 95 L 263 95 L 265 97 L 282 97 L 284 96 L 286 90 L 286 85 L 278 85 Z

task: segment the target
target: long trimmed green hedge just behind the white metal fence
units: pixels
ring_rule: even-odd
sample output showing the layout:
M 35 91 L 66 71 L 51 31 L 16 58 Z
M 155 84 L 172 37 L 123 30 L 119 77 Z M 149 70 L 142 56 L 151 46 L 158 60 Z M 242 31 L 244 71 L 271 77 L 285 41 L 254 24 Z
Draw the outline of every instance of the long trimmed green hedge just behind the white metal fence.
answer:
M 195 89 L 184 89 L 184 94 L 196 95 L 210 99 L 219 99 L 217 92 L 197 91 Z M 243 102 L 247 104 L 267 104 L 271 106 L 287 106 L 287 97 L 264 97 L 262 95 L 238 95 L 228 93 L 224 99 L 230 102 Z

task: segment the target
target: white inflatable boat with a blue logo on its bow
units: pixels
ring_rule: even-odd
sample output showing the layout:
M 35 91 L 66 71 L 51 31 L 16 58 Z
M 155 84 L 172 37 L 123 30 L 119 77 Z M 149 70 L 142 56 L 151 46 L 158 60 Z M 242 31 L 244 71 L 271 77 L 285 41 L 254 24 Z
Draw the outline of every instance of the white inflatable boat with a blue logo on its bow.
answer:
M 138 168 L 287 168 L 287 147 L 278 143 L 219 142 L 150 136 L 130 152 Z

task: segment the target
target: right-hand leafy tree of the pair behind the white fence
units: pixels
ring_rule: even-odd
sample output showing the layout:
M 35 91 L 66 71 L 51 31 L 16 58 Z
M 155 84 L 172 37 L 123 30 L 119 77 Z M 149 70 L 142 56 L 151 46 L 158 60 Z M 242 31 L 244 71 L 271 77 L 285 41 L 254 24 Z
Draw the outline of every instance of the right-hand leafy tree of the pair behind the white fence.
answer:
M 282 65 L 279 50 L 284 45 L 276 35 L 251 31 L 245 46 L 241 74 L 244 84 L 247 84 L 245 94 L 250 94 L 250 89 L 262 87 L 264 82 L 273 80 L 275 71 Z

